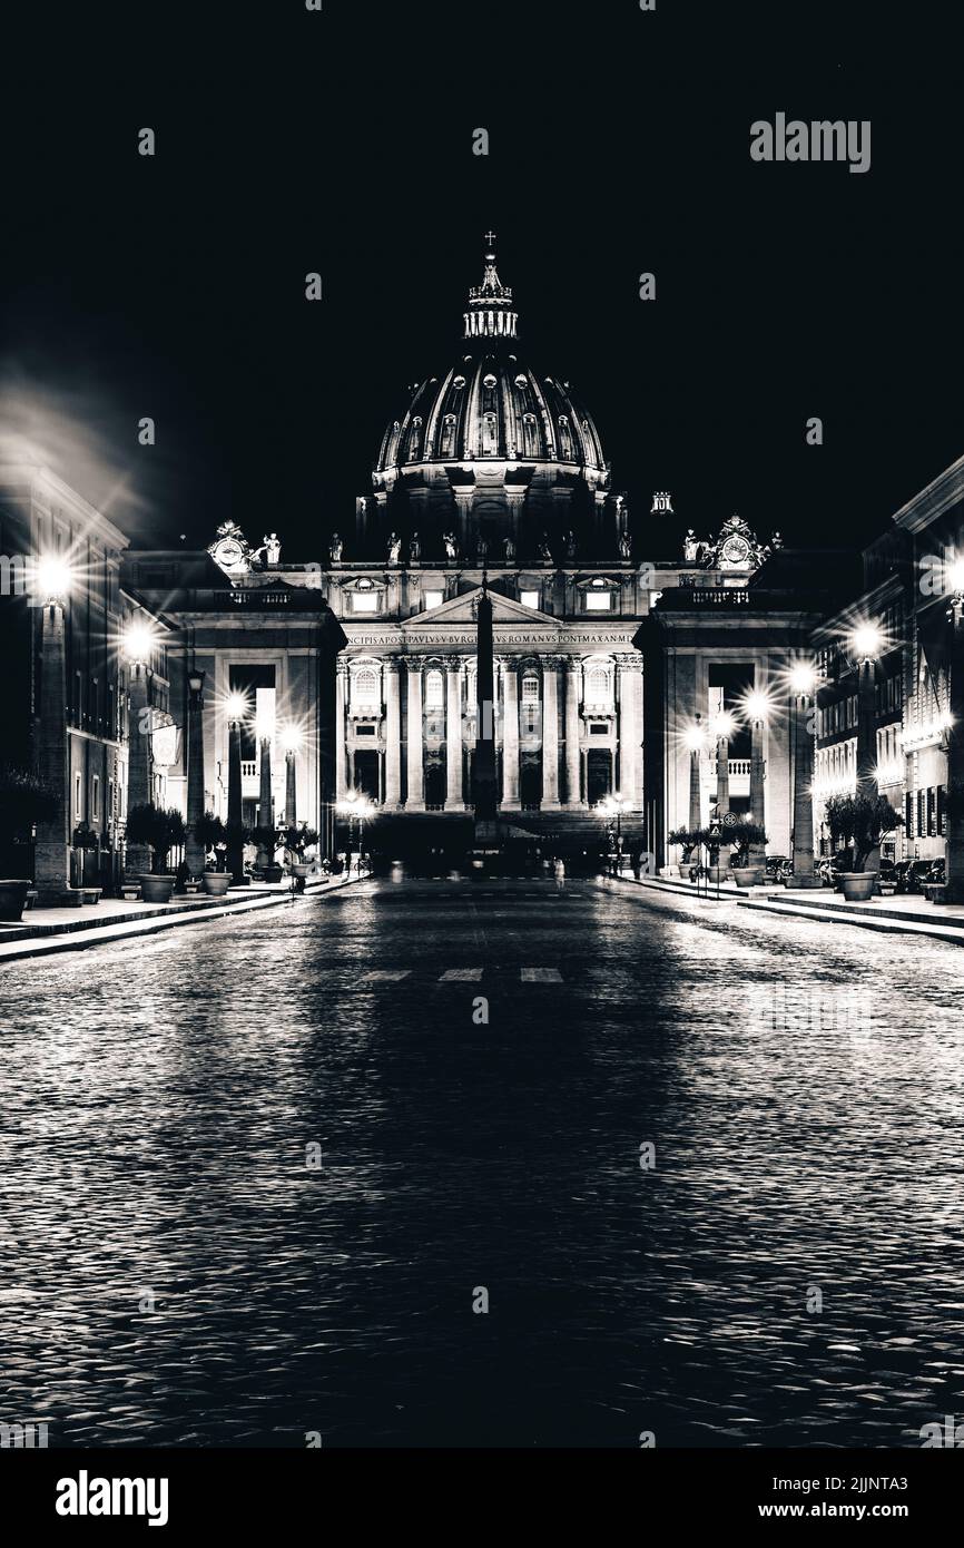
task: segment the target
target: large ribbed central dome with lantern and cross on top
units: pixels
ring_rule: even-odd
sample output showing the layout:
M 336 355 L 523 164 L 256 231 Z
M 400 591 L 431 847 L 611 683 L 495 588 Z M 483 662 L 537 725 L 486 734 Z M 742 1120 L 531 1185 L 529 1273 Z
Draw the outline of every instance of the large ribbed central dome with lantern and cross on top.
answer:
M 559 463 L 603 472 L 599 432 L 569 384 L 531 370 L 514 353 L 512 291 L 498 279 L 492 234 L 487 241 L 484 279 L 470 289 L 464 314 L 467 353 L 446 376 L 424 381 L 388 426 L 376 489 L 438 463 Z

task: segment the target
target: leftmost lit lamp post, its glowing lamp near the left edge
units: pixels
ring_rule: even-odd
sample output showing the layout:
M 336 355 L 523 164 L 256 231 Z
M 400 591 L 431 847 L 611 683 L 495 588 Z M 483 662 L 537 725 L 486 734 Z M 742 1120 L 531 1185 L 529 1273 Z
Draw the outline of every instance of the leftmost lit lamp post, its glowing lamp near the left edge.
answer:
M 67 560 L 57 556 L 37 562 L 36 588 L 40 621 L 40 723 L 37 755 L 40 777 L 50 785 L 56 808 L 37 824 L 34 881 L 40 902 L 60 902 L 70 885 L 70 738 L 67 734 L 67 642 L 65 607 L 73 587 Z

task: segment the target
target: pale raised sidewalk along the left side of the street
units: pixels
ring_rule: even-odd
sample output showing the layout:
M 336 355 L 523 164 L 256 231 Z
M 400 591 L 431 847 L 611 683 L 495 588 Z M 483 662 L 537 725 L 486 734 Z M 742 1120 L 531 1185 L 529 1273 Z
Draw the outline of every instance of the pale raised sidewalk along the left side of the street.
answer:
M 296 893 L 296 902 L 309 896 L 330 896 L 367 879 L 367 876 L 334 876 L 331 881 L 323 881 L 320 876 L 309 876 L 305 892 Z M 104 898 L 82 909 L 28 909 L 20 924 L 0 923 L 0 966 L 23 957 L 76 952 L 128 935 L 152 935 L 176 924 L 223 918 L 226 913 L 251 913 L 254 909 L 277 907 L 289 899 L 291 889 L 285 879 L 272 885 L 255 882 L 251 887 L 238 887 L 224 898 L 200 893 L 167 904 Z

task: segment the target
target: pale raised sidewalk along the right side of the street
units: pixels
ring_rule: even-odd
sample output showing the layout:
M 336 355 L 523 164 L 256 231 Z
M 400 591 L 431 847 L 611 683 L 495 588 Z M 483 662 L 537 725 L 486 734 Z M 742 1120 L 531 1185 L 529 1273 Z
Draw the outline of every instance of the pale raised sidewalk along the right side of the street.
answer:
M 619 878 L 630 885 L 647 887 L 655 892 L 682 893 L 692 902 L 716 902 L 716 887 L 696 889 L 695 882 L 672 881 L 664 878 L 634 876 Z M 735 902 L 741 909 L 752 909 L 764 913 L 785 913 L 803 920 L 820 920 L 829 924 L 859 924 L 868 930 L 887 930 L 907 935 L 928 935 L 936 940 L 952 941 L 964 946 L 964 907 L 959 904 L 928 902 L 918 896 L 873 898 L 870 902 L 848 902 L 839 892 L 829 887 L 800 889 L 792 887 L 752 887 L 747 892 L 721 884 L 720 902 Z

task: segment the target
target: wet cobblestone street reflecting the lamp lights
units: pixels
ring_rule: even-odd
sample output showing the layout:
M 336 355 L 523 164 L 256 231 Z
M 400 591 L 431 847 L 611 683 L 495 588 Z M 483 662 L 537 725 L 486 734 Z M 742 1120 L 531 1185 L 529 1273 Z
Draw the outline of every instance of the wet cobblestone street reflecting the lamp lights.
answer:
M 962 989 L 936 941 L 591 881 L 11 964 L 0 1418 L 919 1446 L 964 1412 Z

